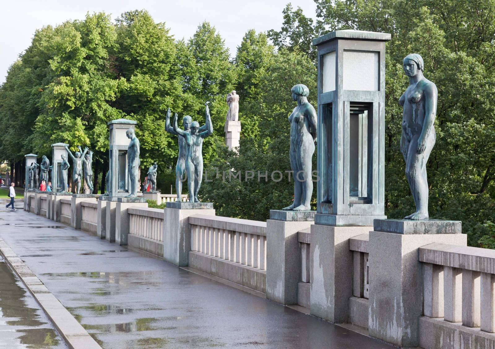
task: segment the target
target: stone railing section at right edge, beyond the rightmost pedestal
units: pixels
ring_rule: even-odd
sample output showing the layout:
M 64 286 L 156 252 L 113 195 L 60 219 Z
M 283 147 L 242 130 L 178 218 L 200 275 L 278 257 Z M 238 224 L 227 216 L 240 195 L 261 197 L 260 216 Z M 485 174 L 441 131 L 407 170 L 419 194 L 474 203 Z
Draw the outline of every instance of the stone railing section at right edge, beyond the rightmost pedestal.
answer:
M 433 243 L 419 249 L 419 260 L 423 262 L 425 315 L 420 319 L 420 346 L 429 348 L 436 343 L 432 340 L 455 331 L 456 336 L 444 337 L 452 348 L 457 336 L 469 343 L 491 343 L 492 348 L 495 250 Z

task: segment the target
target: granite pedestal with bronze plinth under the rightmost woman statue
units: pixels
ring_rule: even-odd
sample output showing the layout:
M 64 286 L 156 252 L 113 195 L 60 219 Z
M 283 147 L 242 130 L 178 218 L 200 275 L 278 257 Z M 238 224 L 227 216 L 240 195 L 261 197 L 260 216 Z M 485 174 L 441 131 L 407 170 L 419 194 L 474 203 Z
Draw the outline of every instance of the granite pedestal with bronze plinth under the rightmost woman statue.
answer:
M 466 246 L 467 236 L 461 230 L 459 221 L 374 221 L 369 233 L 370 336 L 399 347 L 419 345 L 423 270 L 418 249 L 431 243 Z

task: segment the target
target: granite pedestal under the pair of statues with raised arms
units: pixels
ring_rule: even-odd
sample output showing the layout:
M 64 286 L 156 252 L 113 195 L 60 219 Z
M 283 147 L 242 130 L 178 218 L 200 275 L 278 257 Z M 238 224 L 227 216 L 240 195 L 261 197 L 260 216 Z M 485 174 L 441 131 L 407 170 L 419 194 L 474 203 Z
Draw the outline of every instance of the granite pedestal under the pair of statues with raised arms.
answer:
M 215 215 L 211 202 L 167 202 L 163 224 L 163 259 L 178 266 L 189 265 L 191 225 L 189 216 Z

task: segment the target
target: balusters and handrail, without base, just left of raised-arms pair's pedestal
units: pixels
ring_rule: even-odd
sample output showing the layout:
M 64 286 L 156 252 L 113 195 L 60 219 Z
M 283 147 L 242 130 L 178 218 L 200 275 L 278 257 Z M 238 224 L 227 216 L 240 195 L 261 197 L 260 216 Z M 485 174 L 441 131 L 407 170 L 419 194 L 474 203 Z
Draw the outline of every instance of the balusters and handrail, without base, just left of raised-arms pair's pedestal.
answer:
M 163 209 L 128 208 L 129 234 L 163 242 Z

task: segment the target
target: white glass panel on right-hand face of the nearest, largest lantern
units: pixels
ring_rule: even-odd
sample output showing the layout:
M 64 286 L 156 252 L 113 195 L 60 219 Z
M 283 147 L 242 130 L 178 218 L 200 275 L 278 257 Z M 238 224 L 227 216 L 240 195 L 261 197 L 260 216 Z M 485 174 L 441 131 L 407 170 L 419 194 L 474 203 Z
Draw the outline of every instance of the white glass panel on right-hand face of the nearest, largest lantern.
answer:
M 379 54 L 375 51 L 344 50 L 344 90 L 379 90 Z

